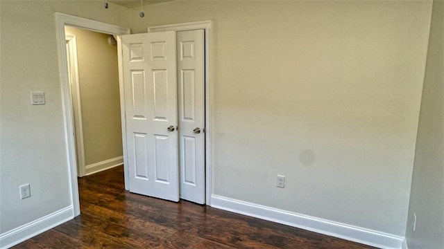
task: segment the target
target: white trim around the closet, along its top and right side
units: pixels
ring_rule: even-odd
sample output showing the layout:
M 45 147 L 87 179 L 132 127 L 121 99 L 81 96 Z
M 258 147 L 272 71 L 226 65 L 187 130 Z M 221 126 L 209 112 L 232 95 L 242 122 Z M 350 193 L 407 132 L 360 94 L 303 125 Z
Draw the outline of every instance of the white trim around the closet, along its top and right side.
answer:
M 149 32 L 205 30 L 205 203 L 211 205 L 212 196 L 212 96 L 214 58 L 212 50 L 212 21 L 194 21 L 183 24 L 169 24 L 148 27 Z

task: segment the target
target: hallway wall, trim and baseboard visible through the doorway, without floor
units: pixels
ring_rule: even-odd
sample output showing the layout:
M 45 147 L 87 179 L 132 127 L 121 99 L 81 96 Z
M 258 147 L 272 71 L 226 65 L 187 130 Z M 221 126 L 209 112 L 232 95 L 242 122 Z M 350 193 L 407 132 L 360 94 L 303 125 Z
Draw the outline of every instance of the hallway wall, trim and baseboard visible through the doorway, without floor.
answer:
M 117 41 L 65 26 L 78 176 L 123 165 Z

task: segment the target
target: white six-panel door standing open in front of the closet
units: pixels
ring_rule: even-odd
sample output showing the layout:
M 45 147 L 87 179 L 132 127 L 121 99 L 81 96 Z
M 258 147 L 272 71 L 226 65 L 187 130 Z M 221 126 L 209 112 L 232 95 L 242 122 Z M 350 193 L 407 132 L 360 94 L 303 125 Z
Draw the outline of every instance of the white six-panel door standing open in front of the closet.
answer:
M 130 192 L 179 200 L 176 32 L 122 36 Z

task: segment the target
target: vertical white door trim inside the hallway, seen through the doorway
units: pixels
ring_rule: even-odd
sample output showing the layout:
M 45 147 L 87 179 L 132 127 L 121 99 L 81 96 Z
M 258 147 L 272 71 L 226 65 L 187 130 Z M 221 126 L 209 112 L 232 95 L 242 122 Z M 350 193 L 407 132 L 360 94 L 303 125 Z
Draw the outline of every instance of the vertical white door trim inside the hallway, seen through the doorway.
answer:
M 70 90 L 74 111 L 74 129 L 76 131 L 77 174 L 78 176 L 85 176 L 85 143 L 83 142 L 82 104 L 80 103 L 80 83 L 78 81 L 77 39 L 75 35 L 65 35 L 65 37 L 69 54 Z

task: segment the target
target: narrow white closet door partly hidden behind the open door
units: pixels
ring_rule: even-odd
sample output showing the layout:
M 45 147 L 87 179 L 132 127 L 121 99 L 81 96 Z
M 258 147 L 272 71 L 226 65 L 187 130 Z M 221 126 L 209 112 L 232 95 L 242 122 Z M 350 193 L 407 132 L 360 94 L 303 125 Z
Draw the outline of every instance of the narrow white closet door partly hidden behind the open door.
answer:
M 205 203 L 204 31 L 177 33 L 180 198 Z

